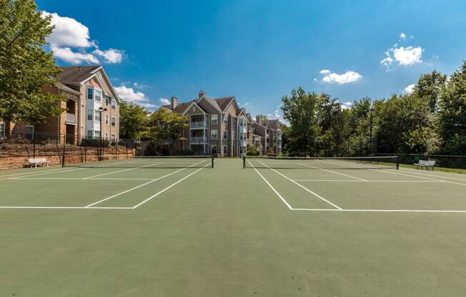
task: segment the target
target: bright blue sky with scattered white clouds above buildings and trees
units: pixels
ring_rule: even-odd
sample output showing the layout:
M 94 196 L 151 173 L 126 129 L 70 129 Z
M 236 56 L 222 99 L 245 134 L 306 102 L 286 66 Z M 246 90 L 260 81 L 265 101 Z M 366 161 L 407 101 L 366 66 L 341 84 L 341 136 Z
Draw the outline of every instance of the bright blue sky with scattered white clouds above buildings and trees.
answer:
M 59 64 L 103 64 L 151 109 L 204 90 L 273 117 L 298 86 L 382 98 L 466 59 L 466 1 L 70 2 L 36 0 L 54 16 Z

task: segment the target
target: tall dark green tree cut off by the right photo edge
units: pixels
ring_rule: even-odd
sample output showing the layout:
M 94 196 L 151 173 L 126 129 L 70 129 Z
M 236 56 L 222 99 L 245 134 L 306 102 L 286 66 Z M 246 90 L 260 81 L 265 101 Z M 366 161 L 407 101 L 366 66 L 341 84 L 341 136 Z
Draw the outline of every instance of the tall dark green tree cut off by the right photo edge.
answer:
M 440 96 L 438 124 L 445 153 L 466 151 L 466 61 L 447 81 Z

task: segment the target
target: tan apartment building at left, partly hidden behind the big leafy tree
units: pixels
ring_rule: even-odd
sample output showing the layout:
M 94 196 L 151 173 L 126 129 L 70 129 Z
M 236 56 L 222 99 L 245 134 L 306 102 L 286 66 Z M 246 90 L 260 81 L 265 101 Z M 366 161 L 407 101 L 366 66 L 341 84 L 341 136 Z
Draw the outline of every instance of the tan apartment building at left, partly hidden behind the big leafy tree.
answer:
M 105 139 L 119 139 L 120 99 L 104 68 L 69 66 L 61 67 L 61 70 L 59 83 L 45 87 L 43 91 L 65 96 L 66 101 L 61 102 L 65 111 L 34 126 L 0 119 L 0 138 L 9 134 L 32 138 L 36 132 L 59 142 L 66 139 L 68 144 L 79 144 L 80 139 L 100 135 Z

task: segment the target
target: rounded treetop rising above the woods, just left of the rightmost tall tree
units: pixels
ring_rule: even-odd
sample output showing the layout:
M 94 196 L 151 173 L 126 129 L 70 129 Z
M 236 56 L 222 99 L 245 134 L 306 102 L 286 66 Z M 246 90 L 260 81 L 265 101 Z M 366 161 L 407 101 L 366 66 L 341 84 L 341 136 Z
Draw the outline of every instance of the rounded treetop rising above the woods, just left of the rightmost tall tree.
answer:
M 429 104 L 432 114 L 437 110 L 437 104 L 440 94 L 445 88 L 446 80 L 447 76 L 445 74 L 435 70 L 430 74 L 422 74 L 413 90 L 413 94 Z

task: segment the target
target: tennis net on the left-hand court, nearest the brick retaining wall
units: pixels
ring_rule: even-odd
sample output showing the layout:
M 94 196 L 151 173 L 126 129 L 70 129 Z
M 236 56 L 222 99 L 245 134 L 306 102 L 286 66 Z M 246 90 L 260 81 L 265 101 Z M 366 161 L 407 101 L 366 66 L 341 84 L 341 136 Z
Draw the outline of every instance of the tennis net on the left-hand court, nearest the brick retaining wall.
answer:
M 74 161 L 74 162 L 73 162 Z M 213 156 L 136 156 L 122 160 L 69 160 L 64 167 L 88 168 L 214 168 Z

